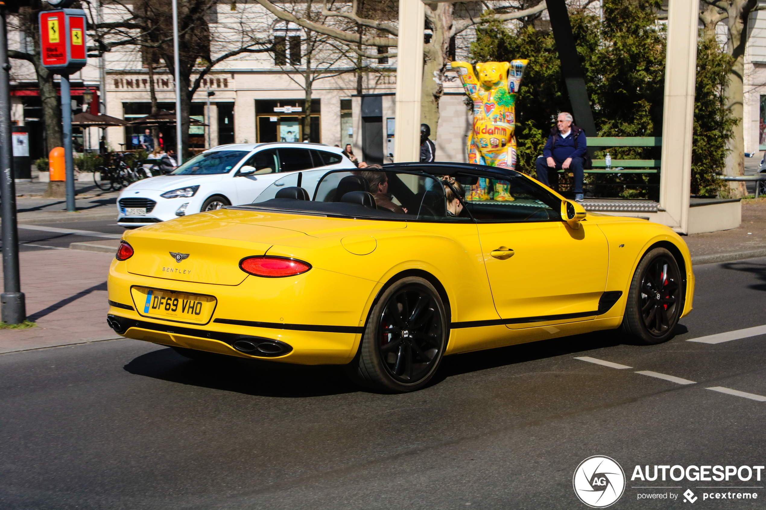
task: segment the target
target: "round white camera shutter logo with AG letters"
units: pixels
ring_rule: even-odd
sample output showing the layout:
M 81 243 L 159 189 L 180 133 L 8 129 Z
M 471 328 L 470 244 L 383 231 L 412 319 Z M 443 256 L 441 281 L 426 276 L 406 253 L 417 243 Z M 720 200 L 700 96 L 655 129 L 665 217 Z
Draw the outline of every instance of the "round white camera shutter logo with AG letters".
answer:
M 572 487 L 585 505 L 605 508 L 614 505 L 625 492 L 625 472 L 616 460 L 594 455 L 577 466 Z

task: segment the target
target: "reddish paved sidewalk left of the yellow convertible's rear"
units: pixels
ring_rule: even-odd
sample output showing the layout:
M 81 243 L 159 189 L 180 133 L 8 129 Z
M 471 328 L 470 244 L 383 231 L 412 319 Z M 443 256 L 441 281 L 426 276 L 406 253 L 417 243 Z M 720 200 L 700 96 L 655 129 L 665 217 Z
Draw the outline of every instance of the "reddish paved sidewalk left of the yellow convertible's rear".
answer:
M 106 275 L 114 255 L 78 250 L 22 252 L 28 330 L 0 330 L 0 353 L 121 338 L 106 326 Z

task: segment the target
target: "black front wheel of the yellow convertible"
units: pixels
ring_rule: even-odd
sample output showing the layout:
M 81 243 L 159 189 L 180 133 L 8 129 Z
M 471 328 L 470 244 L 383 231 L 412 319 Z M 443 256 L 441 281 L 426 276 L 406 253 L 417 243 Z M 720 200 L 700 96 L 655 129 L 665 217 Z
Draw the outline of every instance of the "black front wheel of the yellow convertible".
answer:
M 683 309 L 683 280 L 676 258 L 656 248 L 641 260 L 627 295 L 622 328 L 641 343 L 663 343 L 673 336 Z

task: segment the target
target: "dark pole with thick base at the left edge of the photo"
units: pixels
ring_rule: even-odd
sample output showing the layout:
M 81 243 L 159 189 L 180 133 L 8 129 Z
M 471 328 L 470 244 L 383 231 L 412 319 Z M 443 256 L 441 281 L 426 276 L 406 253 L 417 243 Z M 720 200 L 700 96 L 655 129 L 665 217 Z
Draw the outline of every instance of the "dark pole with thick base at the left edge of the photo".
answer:
M 8 63 L 6 11 L 0 7 L 0 194 L 2 194 L 2 273 L 0 316 L 6 324 L 18 324 L 27 318 L 21 275 L 18 271 L 18 230 L 16 229 L 16 186 L 11 162 L 11 66 Z

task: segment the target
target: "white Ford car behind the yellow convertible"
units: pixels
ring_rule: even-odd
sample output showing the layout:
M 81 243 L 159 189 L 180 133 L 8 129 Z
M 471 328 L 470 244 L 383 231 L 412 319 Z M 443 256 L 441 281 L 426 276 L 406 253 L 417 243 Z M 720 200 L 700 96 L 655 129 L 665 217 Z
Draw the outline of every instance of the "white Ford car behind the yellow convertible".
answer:
M 342 149 L 322 144 L 220 145 L 197 154 L 172 174 L 136 181 L 119 194 L 117 223 L 137 227 L 178 216 L 252 203 L 267 187 L 293 174 L 355 168 Z

